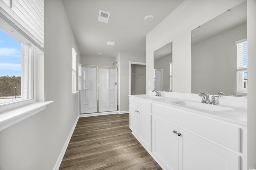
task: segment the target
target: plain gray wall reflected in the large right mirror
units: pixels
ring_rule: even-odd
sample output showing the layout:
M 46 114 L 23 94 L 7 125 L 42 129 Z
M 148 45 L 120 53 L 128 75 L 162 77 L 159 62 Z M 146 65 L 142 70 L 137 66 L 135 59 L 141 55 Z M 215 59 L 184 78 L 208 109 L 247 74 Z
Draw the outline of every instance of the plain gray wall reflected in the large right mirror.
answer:
M 243 24 L 192 44 L 192 93 L 236 95 L 235 41 L 246 37 Z

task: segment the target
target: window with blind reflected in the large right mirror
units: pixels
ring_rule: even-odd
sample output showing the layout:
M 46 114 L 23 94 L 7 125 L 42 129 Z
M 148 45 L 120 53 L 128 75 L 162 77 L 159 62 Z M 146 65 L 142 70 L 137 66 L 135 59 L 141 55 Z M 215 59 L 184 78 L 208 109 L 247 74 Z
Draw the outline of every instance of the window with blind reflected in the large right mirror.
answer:
M 237 82 L 237 95 L 246 96 L 247 95 L 247 39 L 241 39 L 236 41 L 237 47 L 237 73 L 236 73 L 236 82 Z

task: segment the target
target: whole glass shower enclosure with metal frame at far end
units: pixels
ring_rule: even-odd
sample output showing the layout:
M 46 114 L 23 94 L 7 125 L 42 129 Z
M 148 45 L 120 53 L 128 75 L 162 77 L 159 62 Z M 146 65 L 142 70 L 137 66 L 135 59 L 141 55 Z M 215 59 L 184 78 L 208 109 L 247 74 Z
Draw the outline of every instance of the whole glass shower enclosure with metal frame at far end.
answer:
M 79 66 L 80 113 L 118 110 L 118 69 Z

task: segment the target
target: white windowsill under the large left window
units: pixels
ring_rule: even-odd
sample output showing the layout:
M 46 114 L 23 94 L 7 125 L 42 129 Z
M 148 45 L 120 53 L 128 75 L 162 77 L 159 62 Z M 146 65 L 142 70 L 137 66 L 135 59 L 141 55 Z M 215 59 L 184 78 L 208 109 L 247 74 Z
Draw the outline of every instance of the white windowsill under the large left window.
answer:
M 17 107 L 0 113 L 0 131 L 18 123 L 46 108 L 46 105 L 54 101 L 33 102 L 26 106 Z

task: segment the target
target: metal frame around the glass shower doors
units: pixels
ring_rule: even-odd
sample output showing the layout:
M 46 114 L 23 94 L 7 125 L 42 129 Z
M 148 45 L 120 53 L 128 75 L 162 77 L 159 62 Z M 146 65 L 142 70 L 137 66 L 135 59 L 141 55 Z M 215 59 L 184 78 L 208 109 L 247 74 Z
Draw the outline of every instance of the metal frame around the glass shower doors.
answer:
M 116 110 L 112 110 L 112 111 L 118 111 L 119 110 L 119 99 L 118 99 L 118 92 L 119 92 L 119 89 L 118 89 L 118 84 L 119 84 L 119 81 L 118 81 L 118 67 L 115 67 L 115 66 L 97 66 L 97 65 L 84 65 L 84 64 L 79 64 L 79 72 L 78 72 L 78 90 L 79 90 L 79 110 L 80 110 L 80 114 L 90 114 L 90 113 L 82 113 L 81 111 L 81 87 L 80 87 L 80 84 L 81 84 L 81 80 L 80 80 L 80 68 L 82 66 L 91 66 L 91 67 L 96 67 L 96 100 L 97 100 L 97 111 L 96 112 L 91 112 L 91 113 L 104 113 L 104 112 L 110 112 L 110 111 L 99 111 L 99 67 L 102 67 L 102 68 L 116 68 Z

